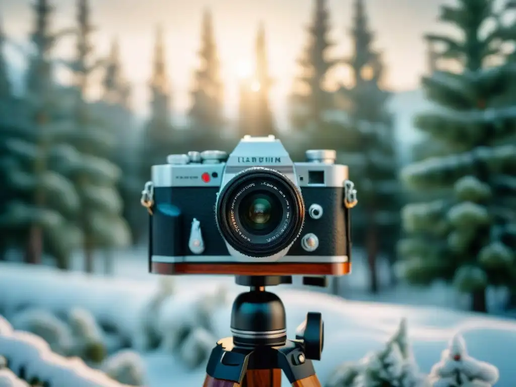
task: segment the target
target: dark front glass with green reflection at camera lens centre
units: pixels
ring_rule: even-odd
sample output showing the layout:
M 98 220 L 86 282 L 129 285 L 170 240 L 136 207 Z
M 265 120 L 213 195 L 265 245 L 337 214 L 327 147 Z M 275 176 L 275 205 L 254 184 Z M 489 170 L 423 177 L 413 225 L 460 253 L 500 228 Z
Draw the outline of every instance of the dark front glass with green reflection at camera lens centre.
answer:
M 257 235 L 270 233 L 283 218 L 281 202 L 267 191 L 249 193 L 240 203 L 238 212 L 244 228 Z

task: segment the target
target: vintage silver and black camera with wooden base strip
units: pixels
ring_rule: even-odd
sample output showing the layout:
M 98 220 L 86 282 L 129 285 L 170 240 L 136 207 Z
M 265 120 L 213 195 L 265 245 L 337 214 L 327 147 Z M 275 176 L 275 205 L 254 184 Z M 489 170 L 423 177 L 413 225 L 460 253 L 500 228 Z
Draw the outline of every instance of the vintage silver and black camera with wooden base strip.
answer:
M 149 271 L 159 274 L 341 276 L 350 272 L 348 167 L 333 150 L 293 163 L 274 136 L 222 151 L 168 156 L 142 192 Z

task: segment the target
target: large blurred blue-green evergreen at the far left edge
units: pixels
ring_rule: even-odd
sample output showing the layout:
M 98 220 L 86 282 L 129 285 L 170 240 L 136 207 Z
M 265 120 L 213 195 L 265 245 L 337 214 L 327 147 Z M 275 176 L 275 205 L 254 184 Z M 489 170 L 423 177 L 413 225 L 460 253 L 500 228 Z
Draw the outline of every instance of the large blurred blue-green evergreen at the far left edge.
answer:
M 71 30 L 51 31 L 52 7 L 46 0 L 39 0 L 34 10 L 34 54 L 29 58 L 26 94 L 4 105 L 9 114 L 2 119 L 2 169 L 9 200 L 3 203 L 0 225 L 10 243 L 26 246 L 28 263 L 39 263 L 44 251 L 64 269 L 80 238 L 69 221 L 78 209 L 78 197 L 65 176 L 77 154 L 60 144 L 69 126 L 61 119 L 63 95 L 53 82 L 51 53 L 59 37 Z

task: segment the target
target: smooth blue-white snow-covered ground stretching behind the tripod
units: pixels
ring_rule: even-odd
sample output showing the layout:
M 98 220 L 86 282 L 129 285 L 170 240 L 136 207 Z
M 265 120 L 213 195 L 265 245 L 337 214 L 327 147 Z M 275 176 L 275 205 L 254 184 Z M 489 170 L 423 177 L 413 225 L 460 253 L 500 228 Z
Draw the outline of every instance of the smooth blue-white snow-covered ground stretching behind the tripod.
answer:
M 99 321 L 115 325 L 122 334 L 136 340 L 141 335 L 142 315 L 156 292 L 159 278 L 147 276 L 146 270 L 142 270 L 139 279 L 105 278 L 3 263 L 0 264 L 0 305 L 7 316 L 30 305 L 55 312 L 84 308 Z M 228 286 L 230 302 L 216 309 L 211 318 L 217 337 L 230 335 L 231 300 L 242 288 L 224 277 L 178 277 L 174 278 L 174 283 L 173 297 L 180 300 L 193 300 L 213 293 L 220 285 Z M 285 303 L 290 336 L 307 312 L 322 312 L 327 340 L 322 361 L 315 364 L 322 383 L 337 365 L 359 360 L 367 352 L 380 348 L 402 317 L 408 319 L 414 355 L 423 372 L 428 373 L 440 360 L 447 342 L 460 331 L 471 356 L 499 368 L 498 387 L 513 387 L 516 380 L 516 321 L 436 307 L 347 301 L 288 286 L 278 286 L 271 291 L 280 295 Z M 172 302 L 157 316 L 170 321 L 181 314 Z M 143 358 L 150 387 L 174 382 L 196 386 L 204 378 L 203 366 L 190 370 L 176 356 L 163 350 L 143 353 Z M 287 385 L 286 380 L 284 382 Z

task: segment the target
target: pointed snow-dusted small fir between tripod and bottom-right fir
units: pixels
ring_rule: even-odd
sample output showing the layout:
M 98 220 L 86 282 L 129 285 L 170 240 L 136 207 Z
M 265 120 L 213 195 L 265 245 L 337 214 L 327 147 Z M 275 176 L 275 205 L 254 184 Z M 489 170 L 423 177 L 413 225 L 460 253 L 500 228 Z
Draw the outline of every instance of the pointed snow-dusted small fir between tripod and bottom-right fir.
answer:
M 327 387 L 427 387 L 419 372 L 408 341 L 407 320 L 379 351 L 368 354 L 357 364 L 338 367 Z

